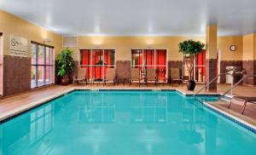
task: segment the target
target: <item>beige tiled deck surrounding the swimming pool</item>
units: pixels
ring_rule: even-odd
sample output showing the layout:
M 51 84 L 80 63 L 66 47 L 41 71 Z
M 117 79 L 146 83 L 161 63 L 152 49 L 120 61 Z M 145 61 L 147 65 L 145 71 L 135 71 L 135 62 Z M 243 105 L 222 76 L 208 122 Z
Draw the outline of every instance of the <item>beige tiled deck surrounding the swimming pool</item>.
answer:
M 3 121 L 6 118 L 11 118 L 20 112 L 25 112 L 28 109 L 31 109 L 34 106 L 43 104 L 48 100 L 55 99 L 60 95 L 67 94 L 74 89 L 172 89 L 181 92 L 183 95 L 194 95 L 197 89 L 200 89 L 201 85 L 198 84 L 195 91 L 187 91 L 185 84 L 183 86 L 170 86 L 162 84 L 158 86 L 149 85 L 138 87 L 137 85 L 107 85 L 102 86 L 102 84 L 88 84 L 88 85 L 52 85 L 49 87 L 34 89 L 28 92 L 25 92 L 20 95 L 13 95 L 0 100 L 0 121 Z M 226 89 L 229 89 L 230 86 L 226 84 L 218 84 L 217 92 L 205 92 L 202 91 L 201 94 L 204 95 L 216 95 L 223 93 Z M 253 95 L 256 96 L 256 87 L 249 86 L 238 86 L 233 91 L 233 95 Z M 252 124 L 256 127 L 256 105 L 248 105 L 244 115 L 241 115 L 241 106 L 232 105 L 230 109 L 227 108 L 227 102 L 211 102 L 209 105 L 214 106 L 220 112 L 225 112 L 234 116 L 234 118 L 239 118 L 242 121 Z

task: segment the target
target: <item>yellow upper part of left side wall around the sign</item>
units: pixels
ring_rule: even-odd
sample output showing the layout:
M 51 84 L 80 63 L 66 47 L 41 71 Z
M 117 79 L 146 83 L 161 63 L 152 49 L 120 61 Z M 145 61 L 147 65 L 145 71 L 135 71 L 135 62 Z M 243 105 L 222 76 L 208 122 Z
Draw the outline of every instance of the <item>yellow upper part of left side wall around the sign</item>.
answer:
M 35 26 L 32 23 L 22 20 L 13 14 L 0 10 L 0 32 L 3 32 L 3 55 L 9 55 L 9 35 L 14 34 L 26 37 L 28 40 L 28 55 L 30 56 L 30 42 L 43 43 L 45 38 L 52 42 L 48 43 L 55 47 L 55 53 L 61 50 L 62 38 L 53 32 L 49 32 L 44 27 Z

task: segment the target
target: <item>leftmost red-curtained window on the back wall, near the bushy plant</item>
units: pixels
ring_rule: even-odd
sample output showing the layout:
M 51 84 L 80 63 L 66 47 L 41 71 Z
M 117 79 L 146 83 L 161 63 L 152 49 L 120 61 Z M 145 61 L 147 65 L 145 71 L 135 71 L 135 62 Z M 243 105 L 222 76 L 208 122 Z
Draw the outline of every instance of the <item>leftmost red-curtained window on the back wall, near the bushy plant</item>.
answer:
M 86 68 L 89 82 L 103 82 L 107 68 L 114 68 L 114 49 L 80 50 L 80 67 Z

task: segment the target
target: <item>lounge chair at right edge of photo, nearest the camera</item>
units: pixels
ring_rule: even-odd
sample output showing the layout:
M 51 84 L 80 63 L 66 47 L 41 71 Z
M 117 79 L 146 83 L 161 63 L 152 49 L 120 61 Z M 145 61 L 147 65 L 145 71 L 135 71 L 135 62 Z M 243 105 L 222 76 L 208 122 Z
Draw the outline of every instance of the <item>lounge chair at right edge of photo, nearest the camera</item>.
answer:
M 230 106 L 231 106 L 231 103 L 236 103 L 236 102 L 241 102 L 243 104 L 243 108 L 242 108 L 242 112 L 241 114 L 244 113 L 245 111 L 245 108 L 247 106 L 247 103 L 253 103 L 253 104 L 256 104 L 256 97 L 249 97 L 249 96 L 234 96 L 232 97 L 232 99 L 230 100 L 230 105 L 229 105 L 229 109 L 230 109 Z

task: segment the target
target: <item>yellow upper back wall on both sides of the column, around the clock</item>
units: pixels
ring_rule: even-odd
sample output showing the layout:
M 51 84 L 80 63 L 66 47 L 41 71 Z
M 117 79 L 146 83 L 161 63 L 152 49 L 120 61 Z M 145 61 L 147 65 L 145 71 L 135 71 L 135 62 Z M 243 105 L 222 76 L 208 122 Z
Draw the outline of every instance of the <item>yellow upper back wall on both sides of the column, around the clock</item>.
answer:
M 116 60 L 131 60 L 131 49 L 167 49 L 168 60 L 183 60 L 178 43 L 186 39 L 206 42 L 206 37 L 79 37 L 79 49 L 116 49 Z M 236 44 L 236 52 L 230 51 L 231 44 Z M 242 37 L 218 37 L 217 47 L 221 60 L 242 59 Z M 79 60 L 79 50 L 74 55 Z

